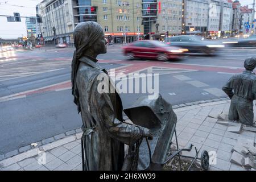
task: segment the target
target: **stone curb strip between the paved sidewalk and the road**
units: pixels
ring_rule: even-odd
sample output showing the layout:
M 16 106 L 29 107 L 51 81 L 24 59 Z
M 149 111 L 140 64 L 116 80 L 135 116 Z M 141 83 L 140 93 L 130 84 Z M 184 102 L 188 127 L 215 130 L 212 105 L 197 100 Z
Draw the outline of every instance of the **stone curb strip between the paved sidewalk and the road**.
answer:
M 228 102 L 230 102 L 229 97 L 213 98 L 210 100 L 202 100 L 196 102 L 188 102 L 179 105 L 173 105 L 172 109 L 174 109 L 174 111 L 185 111 L 204 106 L 226 104 Z M 127 120 L 129 118 L 125 115 L 123 116 L 123 119 Z M 81 136 L 82 130 L 81 128 L 78 128 L 66 131 L 65 133 L 57 134 L 53 137 L 43 139 L 41 141 L 32 143 L 31 145 L 22 146 L 18 150 L 10 151 L 7 152 L 6 154 L 1 154 L 0 169 L 6 167 L 5 164 L 8 164 L 7 166 L 9 166 L 10 164 L 19 162 L 20 160 L 24 160 L 26 158 L 31 158 L 32 156 L 38 155 L 40 152 L 46 152 L 48 150 L 52 150 L 53 148 L 62 146 L 65 143 L 81 139 Z

